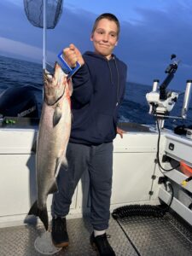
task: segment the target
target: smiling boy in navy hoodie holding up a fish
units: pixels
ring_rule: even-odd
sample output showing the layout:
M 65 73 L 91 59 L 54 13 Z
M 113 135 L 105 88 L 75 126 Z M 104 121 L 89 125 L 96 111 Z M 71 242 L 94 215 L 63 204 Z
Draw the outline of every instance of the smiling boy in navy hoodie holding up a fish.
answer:
M 73 76 L 73 126 L 67 147 L 67 172 L 58 176 L 59 193 L 53 199 L 52 240 L 57 247 L 68 245 L 66 215 L 82 173 L 90 174 L 90 243 L 99 255 L 115 255 L 106 230 L 110 218 L 113 174 L 113 138 L 117 128 L 119 103 L 125 93 L 126 65 L 113 55 L 119 40 L 119 20 L 112 14 L 97 17 L 90 40 L 94 52 L 81 55 L 73 44 L 63 50 L 71 67 L 81 67 Z

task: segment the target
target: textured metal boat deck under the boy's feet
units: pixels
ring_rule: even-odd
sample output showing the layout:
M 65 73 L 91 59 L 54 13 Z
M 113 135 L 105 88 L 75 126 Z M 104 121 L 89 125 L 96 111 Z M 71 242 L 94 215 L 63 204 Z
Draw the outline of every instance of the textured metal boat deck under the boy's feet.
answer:
M 91 226 L 88 217 L 67 220 L 70 244 L 54 255 L 96 255 L 90 246 Z M 26 224 L 0 229 L 1 256 L 42 255 L 34 247 L 44 234 L 42 225 Z M 192 230 L 177 216 L 166 213 L 163 218 L 128 217 L 110 219 L 109 242 L 120 256 L 191 256 Z

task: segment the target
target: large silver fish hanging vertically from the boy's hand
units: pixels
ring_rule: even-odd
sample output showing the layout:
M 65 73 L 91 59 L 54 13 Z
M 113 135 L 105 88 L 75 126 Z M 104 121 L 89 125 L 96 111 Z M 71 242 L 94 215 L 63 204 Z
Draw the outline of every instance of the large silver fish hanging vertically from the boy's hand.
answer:
M 44 103 L 38 129 L 36 177 L 38 199 L 28 214 L 38 216 L 48 230 L 46 201 L 57 189 L 56 176 L 61 162 L 66 160 L 67 143 L 71 131 L 71 102 L 73 86 L 59 64 L 52 76 L 44 72 Z

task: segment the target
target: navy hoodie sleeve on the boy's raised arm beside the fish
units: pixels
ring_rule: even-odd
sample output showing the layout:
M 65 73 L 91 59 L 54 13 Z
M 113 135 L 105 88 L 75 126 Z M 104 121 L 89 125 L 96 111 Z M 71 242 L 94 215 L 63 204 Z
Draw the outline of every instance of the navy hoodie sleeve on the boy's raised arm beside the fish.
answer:
M 90 81 L 89 68 L 86 63 L 73 76 L 73 98 L 81 105 L 90 102 L 93 85 Z

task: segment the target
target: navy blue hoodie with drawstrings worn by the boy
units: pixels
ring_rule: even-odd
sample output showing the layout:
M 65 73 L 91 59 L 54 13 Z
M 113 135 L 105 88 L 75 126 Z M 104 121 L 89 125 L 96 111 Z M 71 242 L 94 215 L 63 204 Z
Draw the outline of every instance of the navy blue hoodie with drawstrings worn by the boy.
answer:
M 125 93 L 126 65 L 113 55 L 85 52 L 73 76 L 73 124 L 70 143 L 98 145 L 116 136 L 119 104 Z

